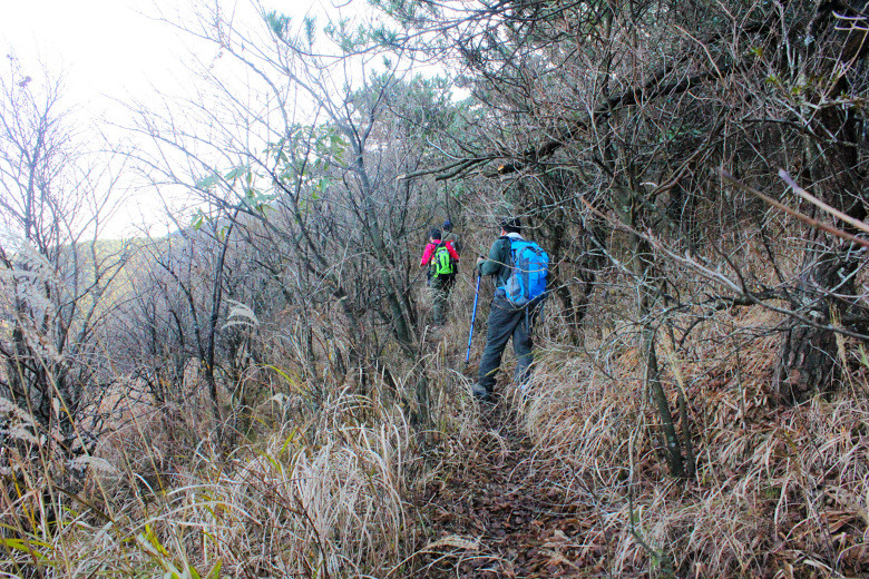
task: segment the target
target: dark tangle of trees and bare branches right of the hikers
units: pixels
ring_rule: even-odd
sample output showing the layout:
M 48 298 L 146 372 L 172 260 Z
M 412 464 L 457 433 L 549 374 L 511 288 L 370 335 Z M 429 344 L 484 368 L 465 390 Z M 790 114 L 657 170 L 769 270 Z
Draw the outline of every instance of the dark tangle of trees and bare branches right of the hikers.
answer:
M 774 330 L 779 400 L 833 387 L 836 333 L 865 340 L 868 321 L 865 244 L 848 237 L 865 227 L 847 220 L 866 216 L 861 4 L 384 9 L 406 24 L 383 31 L 385 40 L 459 63 L 490 111 L 431 173 L 509 183 L 510 206 L 553 248 L 568 327 L 605 268 L 636 287 L 632 317 L 674 473 L 687 457 L 658 380 L 658 331 L 684 343 L 717 310 L 770 307 L 787 314 Z M 802 189 L 814 205 L 795 197 Z M 782 210 L 802 220 L 783 220 Z

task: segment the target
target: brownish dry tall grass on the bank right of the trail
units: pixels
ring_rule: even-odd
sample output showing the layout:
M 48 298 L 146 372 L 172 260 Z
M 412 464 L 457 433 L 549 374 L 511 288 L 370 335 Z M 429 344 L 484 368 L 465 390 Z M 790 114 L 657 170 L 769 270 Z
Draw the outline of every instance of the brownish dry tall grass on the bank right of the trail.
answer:
M 539 454 L 559 459 L 555 474 L 593 517 L 576 540 L 613 576 L 869 572 L 869 400 L 846 389 L 775 406 L 775 337 L 741 332 L 773 323 L 723 313 L 686 344 L 690 357 L 671 356 L 670 390 L 682 380 L 691 404 L 692 481 L 665 472 L 635 349 L 611 360 L 550 351 L 538 361 L 524 418 Z M 722 349 L 724 340 L 741 343 Z

